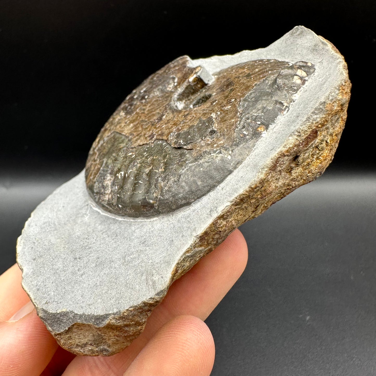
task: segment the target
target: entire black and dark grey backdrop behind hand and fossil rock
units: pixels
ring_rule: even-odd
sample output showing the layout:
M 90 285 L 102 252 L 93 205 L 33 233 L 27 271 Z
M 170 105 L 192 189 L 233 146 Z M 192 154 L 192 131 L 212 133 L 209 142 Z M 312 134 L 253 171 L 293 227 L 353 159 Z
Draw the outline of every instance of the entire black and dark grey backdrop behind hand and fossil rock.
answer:
M 242 226 L 249 265 L 207 320 L 213 374 L 376 374 L 375 20 L 374 0 L 2 0 L 0 272 L 33 208 L 82 170 L 149 74 L 303 25 L 347 61 L 348 120 L 324 176 Z

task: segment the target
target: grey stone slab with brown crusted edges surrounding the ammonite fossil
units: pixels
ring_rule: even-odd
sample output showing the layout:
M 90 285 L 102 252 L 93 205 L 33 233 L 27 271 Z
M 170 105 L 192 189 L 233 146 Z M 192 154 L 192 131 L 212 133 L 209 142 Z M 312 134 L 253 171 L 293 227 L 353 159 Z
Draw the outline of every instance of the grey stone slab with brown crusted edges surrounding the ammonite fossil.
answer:
M 161 203 L 161 214 L 150 216 L 111 214 L 91 198 L 82 171 L 33 211 L 18 238 L 17 262 L 24 290 L 62 347 L 79 355 L 124 349 L 175 279 L 331 162 L 350 82 L 343 57 L 326 39 L 297 26 L 269 47 L 188 63 L 201 66 L 210 84 L 216 72 L 262 59 L 307 62 L 314 72 L 293 93 L 288 111 L 259 129 L 261 136 L 235 168 L 193 202 L 173 202 L 172 208 Z M 189 134 L 179 135 L 177 147 L 184 137 Z M 215 168 L 220 173 L 221 164 Z

